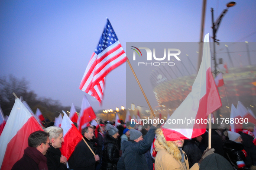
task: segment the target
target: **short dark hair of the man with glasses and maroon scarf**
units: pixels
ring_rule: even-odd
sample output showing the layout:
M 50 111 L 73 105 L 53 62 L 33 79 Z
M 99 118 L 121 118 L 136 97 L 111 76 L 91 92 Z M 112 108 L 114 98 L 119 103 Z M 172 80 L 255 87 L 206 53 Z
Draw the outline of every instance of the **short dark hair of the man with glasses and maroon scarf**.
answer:
M 42 130 L 38 130 L 29 135 L 28 144 L 29 146 L 36 148 L 43 142 L 46 142 L 47 137 L 49 136 L 50 136 L 49 133 L 44 132 Z

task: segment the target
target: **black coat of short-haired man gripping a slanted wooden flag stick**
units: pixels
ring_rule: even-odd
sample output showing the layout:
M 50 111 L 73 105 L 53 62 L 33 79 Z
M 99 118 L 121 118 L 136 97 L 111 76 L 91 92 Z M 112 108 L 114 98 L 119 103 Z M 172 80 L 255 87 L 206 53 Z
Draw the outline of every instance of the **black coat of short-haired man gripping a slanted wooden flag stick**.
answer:
M 85 137 L 84 139 L 95 153 L 95 150 L 93 148 L 94 143 L 90 142 Z M 75 147 L 72 159 L 74 161 L 74 170 L 95 170 L 96 161 L 94 155 L 88 148 L 88 146 L 85 144 L 83 139 Z

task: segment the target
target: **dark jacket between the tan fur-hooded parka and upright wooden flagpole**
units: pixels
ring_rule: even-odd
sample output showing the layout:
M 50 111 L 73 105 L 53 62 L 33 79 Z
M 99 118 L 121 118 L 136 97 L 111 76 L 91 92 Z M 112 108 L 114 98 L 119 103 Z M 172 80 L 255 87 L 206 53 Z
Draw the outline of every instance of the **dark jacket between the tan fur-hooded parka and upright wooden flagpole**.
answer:
M 202 157 L 202 152 L 198 147 L 199 144 L 199 142 L 194 140 L 185 140 L 185 144 L 183 145 L 182 150 L 185 151 L 188 156 L 189 168 L 191 168 L 195 163 L 200 161 Z

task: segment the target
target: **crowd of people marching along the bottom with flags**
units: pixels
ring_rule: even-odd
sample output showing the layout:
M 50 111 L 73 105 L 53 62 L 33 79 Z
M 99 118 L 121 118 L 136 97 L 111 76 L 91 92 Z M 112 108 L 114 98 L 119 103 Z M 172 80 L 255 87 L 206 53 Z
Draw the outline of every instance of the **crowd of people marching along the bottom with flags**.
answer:
M 82 129 L 84 140 L 68 160 L 60 151 L 65 142 L 61 127 L 33 132 L 23 157 L 12 170 L 256 169 L 253 123 L 243 124 L 239 133 L 224 127 L 212 129 L 210 149 L 208 131 L 193 139 L 166 141 L 158 124 L 134 129 L 121 120 L 117 126 L 109 121 L 100 121 L 100 125 Z

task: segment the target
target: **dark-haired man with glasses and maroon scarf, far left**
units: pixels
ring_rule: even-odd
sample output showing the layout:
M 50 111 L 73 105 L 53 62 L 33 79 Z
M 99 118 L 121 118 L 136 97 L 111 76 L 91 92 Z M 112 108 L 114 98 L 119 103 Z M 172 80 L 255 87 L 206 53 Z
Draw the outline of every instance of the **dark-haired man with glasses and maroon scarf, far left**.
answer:
M 51 145 L 49 133 L 41 130 L 31 133 L 28 144 L 23 157 L 13 165 L 12 170 L 48 170 L 44 155 Z

